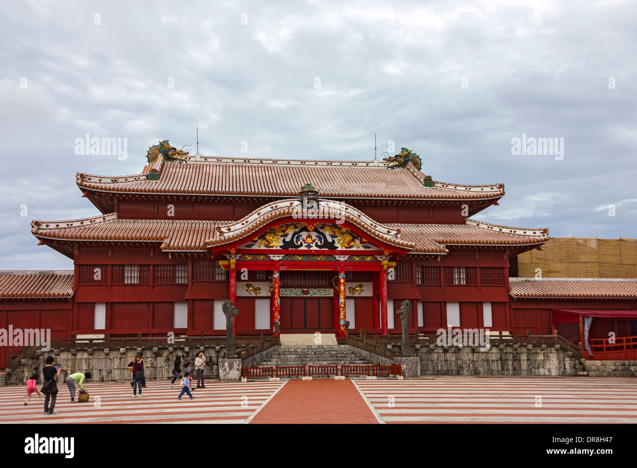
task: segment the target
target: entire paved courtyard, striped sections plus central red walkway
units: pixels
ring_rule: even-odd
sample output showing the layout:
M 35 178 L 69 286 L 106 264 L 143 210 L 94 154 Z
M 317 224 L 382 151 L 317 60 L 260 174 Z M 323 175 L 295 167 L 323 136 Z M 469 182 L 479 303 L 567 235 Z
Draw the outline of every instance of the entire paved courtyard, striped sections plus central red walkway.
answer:
M 637 379 L 436 376 L 418 380 L 209 381 L 190 401 L 149 381 L 88 383 L 91 402 L 44 416 L 25 386 L 0 388 L 1 423 L 637 423 Z

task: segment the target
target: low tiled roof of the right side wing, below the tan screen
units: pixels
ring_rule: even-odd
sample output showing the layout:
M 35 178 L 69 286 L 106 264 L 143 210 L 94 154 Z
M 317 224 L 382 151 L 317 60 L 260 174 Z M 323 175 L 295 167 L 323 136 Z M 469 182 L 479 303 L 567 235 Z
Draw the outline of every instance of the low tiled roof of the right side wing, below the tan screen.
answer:
M 634 278 L 509 278 L 513 297 L 534 299 L 637 299 Z

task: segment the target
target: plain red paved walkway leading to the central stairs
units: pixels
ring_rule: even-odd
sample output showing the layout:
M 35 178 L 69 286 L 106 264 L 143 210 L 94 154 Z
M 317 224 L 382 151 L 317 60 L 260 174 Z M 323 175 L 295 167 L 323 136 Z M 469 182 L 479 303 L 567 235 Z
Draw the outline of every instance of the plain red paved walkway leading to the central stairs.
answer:
M 251 424 L 378 424 L 350 379 L 290 380 Z

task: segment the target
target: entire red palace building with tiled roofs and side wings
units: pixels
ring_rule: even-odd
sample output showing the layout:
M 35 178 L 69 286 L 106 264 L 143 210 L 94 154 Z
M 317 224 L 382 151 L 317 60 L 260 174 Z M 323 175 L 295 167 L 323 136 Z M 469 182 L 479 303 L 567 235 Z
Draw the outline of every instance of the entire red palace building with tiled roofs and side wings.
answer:
M 343 336 L 346 320 L 387 334 L 401 332 L 408 299 L 412 333 L 557 329 L 594 358 L 637 358 L 635 280 L 509 277 L 548 230 L 471 219 L 498 204 L 501 183 L 434 181 L 405 148 L 382 161 L 266 160 L 162 141 L 147 157 L 140 174 L 77 174 L 100 215 L 32 222 L 74 271 L 1 272 L 0 327 L 223 335 L 231 299 L 238 336 Z M 609 332 L 623 348 L 605 346 Z

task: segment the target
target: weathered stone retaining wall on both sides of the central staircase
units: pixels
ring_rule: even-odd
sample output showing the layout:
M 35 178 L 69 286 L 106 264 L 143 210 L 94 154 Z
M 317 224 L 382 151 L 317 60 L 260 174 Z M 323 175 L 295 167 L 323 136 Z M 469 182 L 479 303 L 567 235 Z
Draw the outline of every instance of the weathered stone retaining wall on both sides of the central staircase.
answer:
M 392 361 L 369 353 L 368 351 L 348 346 L 357 355 L 373 364 L 389 365 Z M 269 348 L 257 356 L 248 358 L 243 365 L 253 367 L 257 362 L 277 347 Z M 168 379 L 171 377 L 173 362 L 177 353 L 182 355 L 183 362 L 189 360 L 192 363 L 194 373 L 194 358 L 199 352 L 199 348 L 190 348 L 185 351 L 183 347 L 162 347 L 154 350 L 144 350 L 144 361 L 146 363 L 147 379 Z M 422 346 L 416 350 L 420 359 L 421 375 L 497 375 L 497 376 L 573 376 L 575 372 L 582 369 L 582 364 L 573 355 L 561 348 L 554 346 L 491 346 L 489 351 L 480 351 L 480 348 L 464 346 Z M 25 360 L 17 369 L 10 373 L 0 374 L 0 386 L 3 385 L 24 385 L 34 367 L 41 369 L 44 360 L 48 355 L 55 357 L 56 364 L 62 365 L 62 372 L 58 378 L 59 383 L 63 383 L 66 377 L 73 372 L 91 371 L 92 381 L 118 381 L 129 380 L 131 372 L 126 364 L 131 362 L 137 353 L 136 348 L 125 348 L 124 352 L 120 348 L 111 348 L 110 352 L 104 350 L 94 350 L 89 354 L 87 350 L 77 350 L 75 354 L 71 351 L 59 351 L 59 353 L 43 353 L 31 359 Z M 217 378 L 219 375 L 218 358 L 225 358 L 225 348 L 217 351 L 215 348 L 204 350 L 206 356 L 206 378 Z

